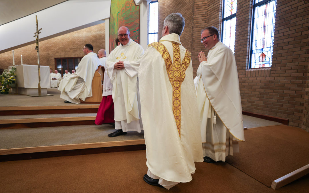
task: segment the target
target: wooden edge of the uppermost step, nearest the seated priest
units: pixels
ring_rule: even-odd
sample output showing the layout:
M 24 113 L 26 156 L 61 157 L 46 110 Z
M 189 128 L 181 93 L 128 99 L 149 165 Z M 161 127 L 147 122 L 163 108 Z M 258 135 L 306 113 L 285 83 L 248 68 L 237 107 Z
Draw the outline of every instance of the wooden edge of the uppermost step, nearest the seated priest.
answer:
M 59 105 L 59 106 L 18 106 L 0 107 L 0 111 L 19 111 L 19 110 L 48 110 L 48 109 L 92 109 L 99 108 L 99 104 L 93 105 Z

